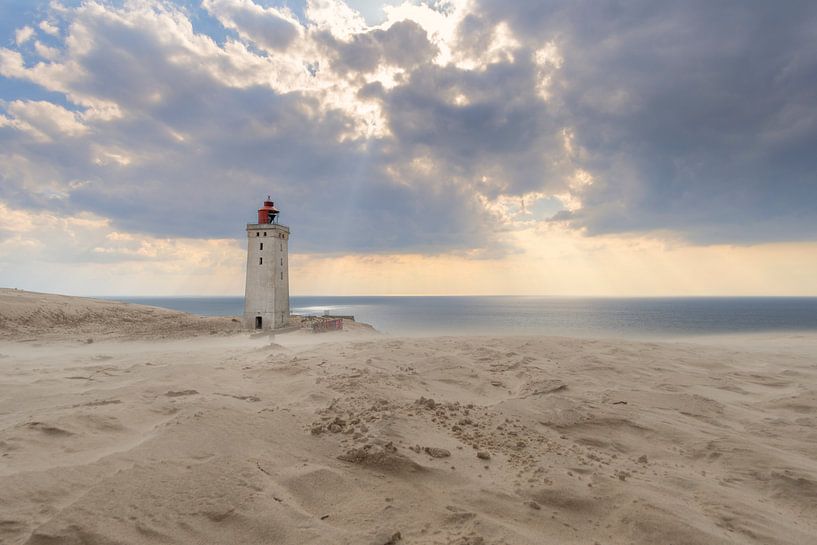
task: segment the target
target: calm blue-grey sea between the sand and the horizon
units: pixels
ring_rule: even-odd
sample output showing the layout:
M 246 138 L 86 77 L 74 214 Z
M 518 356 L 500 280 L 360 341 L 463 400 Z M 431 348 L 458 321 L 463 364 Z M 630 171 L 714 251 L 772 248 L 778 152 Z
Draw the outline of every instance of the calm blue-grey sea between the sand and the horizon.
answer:
M 243 297 L 106 297 L 198 315 L 239 316 Z M 293 314 L 352 315 L 379 331 L 661 339 L 817 332 L 817 297 L 293 296 Z

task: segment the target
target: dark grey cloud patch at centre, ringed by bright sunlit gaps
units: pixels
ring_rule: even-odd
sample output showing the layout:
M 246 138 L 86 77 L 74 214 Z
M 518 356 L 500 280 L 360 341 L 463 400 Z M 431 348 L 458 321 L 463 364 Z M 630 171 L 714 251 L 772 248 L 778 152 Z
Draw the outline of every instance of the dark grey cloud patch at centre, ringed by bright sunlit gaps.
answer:
M 484 71 L 415 70 L 382 98 L 396 140 L 394 160 L 428 156 L 458 179 L 481 182 L 489 198 L 564 191 L 562 126 L 536 95 L 535 75 L 524 55 Z

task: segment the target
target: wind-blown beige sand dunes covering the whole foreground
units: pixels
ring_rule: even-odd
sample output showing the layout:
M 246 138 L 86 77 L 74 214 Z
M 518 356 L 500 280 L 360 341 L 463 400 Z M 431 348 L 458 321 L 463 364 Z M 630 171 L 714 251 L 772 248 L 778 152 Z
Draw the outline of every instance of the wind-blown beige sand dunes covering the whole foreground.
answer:
M 91 344 L 0 322 L 0 543 L 817 543 L 810 350 L 131 310 Z

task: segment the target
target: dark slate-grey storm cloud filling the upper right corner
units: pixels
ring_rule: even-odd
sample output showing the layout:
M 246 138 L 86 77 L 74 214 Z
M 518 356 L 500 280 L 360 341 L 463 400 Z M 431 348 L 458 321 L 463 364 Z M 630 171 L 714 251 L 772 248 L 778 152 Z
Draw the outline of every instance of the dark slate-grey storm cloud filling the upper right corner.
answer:
M 564 56 L 554 92 L 596 183 L 559 219 L 702 242 L 817 236 L 817 4 L 480 9 Z

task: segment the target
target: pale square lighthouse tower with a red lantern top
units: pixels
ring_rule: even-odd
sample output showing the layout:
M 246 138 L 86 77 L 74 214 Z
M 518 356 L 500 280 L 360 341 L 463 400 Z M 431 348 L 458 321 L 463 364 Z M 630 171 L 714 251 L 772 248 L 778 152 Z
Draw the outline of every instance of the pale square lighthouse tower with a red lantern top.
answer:
M 289 320 L 289 227 L 278 223 L 278 214 L 267 197 L 258 223 L 247 224 L 244 326 L 249 329 L 276 329 Z

